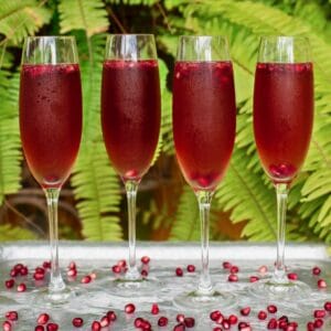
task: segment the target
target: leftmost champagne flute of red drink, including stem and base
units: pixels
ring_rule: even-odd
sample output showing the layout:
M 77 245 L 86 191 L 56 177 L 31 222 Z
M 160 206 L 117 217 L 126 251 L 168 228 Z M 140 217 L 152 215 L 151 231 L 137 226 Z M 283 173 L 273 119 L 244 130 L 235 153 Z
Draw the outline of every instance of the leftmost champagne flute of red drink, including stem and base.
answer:
M 82 135 L 82 90 L 73 36 L 29 36 L 22 54 L 20 131 L 28 166 L 47 202 L 51 275 L 41 305 L 68 302 L 76 292 L 63 281 L 58 264 L 57 203 Z

